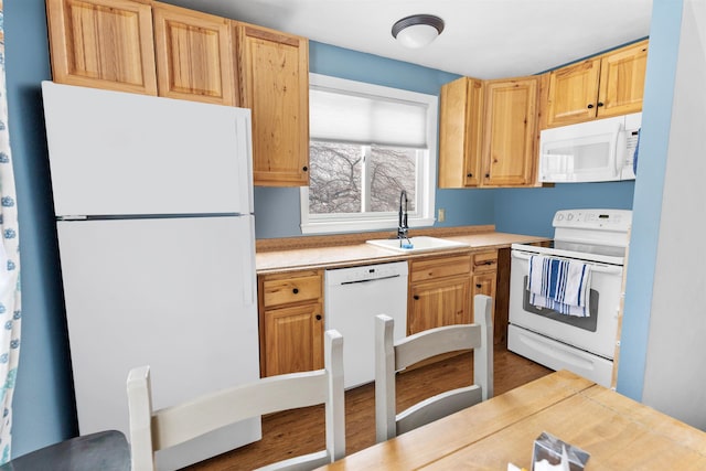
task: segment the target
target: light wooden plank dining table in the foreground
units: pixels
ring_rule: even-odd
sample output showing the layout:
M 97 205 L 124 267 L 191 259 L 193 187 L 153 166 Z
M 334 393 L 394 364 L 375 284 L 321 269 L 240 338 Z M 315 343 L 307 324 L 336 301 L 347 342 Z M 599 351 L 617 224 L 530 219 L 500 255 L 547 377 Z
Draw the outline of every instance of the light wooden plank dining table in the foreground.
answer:
M 706 432 L 567 371 L 322 469 L 531 469 L 543 431 L 589 452 L 587 470 L 706 470 Z

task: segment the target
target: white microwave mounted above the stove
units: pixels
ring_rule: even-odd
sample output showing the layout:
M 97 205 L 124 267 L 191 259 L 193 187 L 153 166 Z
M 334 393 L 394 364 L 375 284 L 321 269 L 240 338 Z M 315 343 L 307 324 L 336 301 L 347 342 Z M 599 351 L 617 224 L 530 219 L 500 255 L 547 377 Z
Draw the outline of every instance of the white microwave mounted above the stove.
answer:
M 642 113 L 545 129 L 539 136 L 539 182 L 634 180 Z

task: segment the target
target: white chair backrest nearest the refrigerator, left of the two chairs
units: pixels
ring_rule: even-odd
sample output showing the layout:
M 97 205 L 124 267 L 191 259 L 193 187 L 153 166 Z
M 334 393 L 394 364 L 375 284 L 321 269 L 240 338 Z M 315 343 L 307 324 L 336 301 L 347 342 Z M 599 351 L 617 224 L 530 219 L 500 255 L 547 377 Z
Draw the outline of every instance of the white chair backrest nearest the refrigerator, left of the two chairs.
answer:
M 127 382 L 132 471 L 154 470 L 154 452 L 221 427 L 280 410 L 325 404 L 325 450 L 270 464 L 263 470 L 311 470 L 345 454 L 343 338 L 325 332 L 324 368 L 270 376 L 152 409 L 150 368 L 130 371 Z

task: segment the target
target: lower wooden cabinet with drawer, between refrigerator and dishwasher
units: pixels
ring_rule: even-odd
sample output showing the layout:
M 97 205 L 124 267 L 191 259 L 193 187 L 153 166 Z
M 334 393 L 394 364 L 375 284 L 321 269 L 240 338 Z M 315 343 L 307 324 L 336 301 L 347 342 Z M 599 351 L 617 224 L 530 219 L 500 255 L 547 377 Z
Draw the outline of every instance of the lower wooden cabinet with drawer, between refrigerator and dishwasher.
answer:
M 323 367 L 323 271 L 258 277 L 260 375 Z

